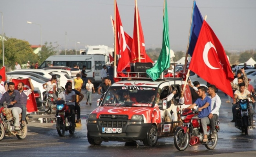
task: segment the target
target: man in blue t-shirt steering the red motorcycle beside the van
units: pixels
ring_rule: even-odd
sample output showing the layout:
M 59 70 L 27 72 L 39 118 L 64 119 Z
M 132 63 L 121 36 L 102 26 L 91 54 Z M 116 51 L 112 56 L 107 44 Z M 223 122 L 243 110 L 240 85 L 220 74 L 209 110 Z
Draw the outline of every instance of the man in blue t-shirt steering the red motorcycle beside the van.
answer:
M 197 94 L 199 95 L 199 97 L 196 100 L 196 102 L 194 102 L 194 104 L 188 106 L 189 109 L 193 109 L 195 106 L 198 106 L 198 118 L 201 119 L 201 126 L 203 128 L 203 142 L 208 142 L 208 138 L 207 138 L 207 124 L 210 124 L 210 120 L 208 119 L 208 115 L 210 114 L 211 111 L 211 103 L 212 100 L 206 96 L 206 88 L 204 86 L 200 86 L 197 88 Z

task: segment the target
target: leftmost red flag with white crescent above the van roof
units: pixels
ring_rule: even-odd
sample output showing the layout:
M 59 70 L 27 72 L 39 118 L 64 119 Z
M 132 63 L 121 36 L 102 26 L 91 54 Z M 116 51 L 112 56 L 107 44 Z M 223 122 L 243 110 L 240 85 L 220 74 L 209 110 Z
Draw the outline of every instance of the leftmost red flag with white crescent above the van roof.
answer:
M 119 55 L 119 61 L 117 64 L 117 71 L 123 71 L 127 66 L 130 66 L 131 61 L 131 47 L 127 44 L 132 43 L 131 37 L 124 32 L 123 25 L 121 22 L 121 18 L 119 15 L 119 10 L 116 4 L 116 14 L 115 14 L 115 22 L 116 22 L 116 31 L 117 35 L 115 36 L 117 41 L 117 55 Z M 129 41 L 131 40 L 131 41 Z M 131 46 L 131 45 L 130 45 Z

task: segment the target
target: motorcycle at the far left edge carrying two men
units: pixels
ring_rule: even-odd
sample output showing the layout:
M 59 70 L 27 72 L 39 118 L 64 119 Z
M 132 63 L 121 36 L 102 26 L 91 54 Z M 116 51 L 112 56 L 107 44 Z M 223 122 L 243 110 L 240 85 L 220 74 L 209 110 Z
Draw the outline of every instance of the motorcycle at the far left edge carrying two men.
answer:
M 20 130 L 15 130 L 15 119 L 13 114 L 7 106 L 10 104 L 5 104 L 0 107 L 0 141 L 6 137 L 16 136 L 18 139 L 25 139 L 27 136 L 27 120 L 25 120 L 25 125 L 22 126 L 20 123 Z M 21 120 L 21 114 L 19 115 L 19 121 Z

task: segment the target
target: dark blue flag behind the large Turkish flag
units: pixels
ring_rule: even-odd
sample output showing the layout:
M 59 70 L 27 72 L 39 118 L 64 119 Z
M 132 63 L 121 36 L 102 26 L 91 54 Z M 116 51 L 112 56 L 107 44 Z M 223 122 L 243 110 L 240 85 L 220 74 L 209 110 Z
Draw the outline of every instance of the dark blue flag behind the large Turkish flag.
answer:
M 197 38 L 199 32 L 201 30 L 203 24 L 203 17 L 196 5 L 196 1 L 194 1 L 193 6 L 193 13 L 192 13 L 192 20 L 191 20 L 191 27 L 190 27 L 190 35 L 189 35 L 189 46 L 188 46 L 188 54 L 192 57 Z

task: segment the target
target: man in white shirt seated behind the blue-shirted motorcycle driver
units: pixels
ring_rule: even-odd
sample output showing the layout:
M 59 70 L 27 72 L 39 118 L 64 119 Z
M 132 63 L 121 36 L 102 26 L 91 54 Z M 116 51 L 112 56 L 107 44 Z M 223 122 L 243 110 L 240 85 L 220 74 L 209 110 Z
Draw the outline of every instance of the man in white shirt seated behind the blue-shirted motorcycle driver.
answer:
M 212 131 L 212 139 L 216 137 L 216 131 L 215 131 L 215 121 L 219 118 L 219 108 L 221 105 L 221 100 L 219 98 L 219 95 L 215 93 L 216 87 L 214 85 L 208 86 L 208 97 L 212 100 L 211 102 L 211 113 L 208 115 L 208 118 L 210 119 L 210 129 Z

